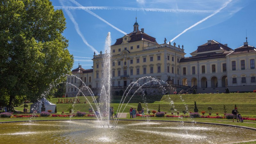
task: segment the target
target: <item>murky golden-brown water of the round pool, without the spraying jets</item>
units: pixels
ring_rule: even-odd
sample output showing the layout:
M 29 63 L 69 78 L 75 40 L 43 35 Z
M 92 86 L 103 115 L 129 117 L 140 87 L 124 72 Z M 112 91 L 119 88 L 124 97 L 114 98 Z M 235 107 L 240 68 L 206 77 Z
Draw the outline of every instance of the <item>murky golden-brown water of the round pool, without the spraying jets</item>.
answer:
M 212 124 L 119 121 L 102 128 L 97 121 L 1 123 L 4 143 L 232 143 L 255 140 L 253 130 Z

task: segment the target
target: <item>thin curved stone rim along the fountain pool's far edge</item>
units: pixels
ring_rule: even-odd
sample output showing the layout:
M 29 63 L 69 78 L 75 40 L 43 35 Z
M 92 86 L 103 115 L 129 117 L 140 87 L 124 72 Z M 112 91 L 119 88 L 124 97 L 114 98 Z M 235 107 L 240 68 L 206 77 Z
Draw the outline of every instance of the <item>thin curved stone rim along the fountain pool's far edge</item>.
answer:
M 36 122 L 36 121 L 67 121 L 68 119 L 48 119 L 48 120 L 24 120 L 24 121 L 6 121 L 1 123 L 18 123 L 18 122 Z M 70 119 L 71 121 L 80 121 L 80 120 L 97 120 L 97 119 Z M 140 120 L 140 119 L 119 119 L 120 121 L 148 121 L 148 120 Z M 111 120 L 112 121 L 112 120 Z M 218 123 L 207 123 L 207 122 L 189 122 L 189 121 L 171 121 L 171 120 L 150 120 L 153 122 L 183 122 L 183 123 L 195 123 L 195 124 L 213 124 L 213 125 L 223 125 L 223 126 L 231 126 L 237 128 L 244 128 L 249 130 L 256 131 L 256 128 L 240 126 L 240 125 L 232 125 L 232 124 L 218 124 Z

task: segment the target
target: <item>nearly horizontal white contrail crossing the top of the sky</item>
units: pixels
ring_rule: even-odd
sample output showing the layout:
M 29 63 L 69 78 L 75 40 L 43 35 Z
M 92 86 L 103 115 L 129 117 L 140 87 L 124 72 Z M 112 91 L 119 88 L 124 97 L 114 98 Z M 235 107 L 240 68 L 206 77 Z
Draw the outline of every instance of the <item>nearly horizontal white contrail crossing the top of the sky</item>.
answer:
M 158 9 L 158 8 L 133 8 L 115 6 L 54 6 L 54 8 L 66 8 L 74 10 L 124 10 L 124 11 L 147 11 L 147 12 L 187 12 L 187 13 L 211 13 L 212 10 L 186 10 L 186 9 Z

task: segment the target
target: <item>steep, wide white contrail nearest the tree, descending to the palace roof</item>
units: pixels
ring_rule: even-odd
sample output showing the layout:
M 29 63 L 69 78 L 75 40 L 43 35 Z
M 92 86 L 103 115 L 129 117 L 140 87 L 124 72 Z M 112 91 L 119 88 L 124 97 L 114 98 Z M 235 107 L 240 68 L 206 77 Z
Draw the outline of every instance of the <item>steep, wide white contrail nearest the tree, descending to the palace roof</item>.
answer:
M 61 2 L 61 0 L 59 0 L 59 1 L 60 1 L 60 4 L 63 6 L 63 3 Z M 87 41 L 85 40 L 85 38 L 84 38 L 82 32 L 80 31 L 80 29 L 79 29 L 79 27 L 78 27 L 78 24 L 77 24 L 76 20 L 74 19 L 73 15 L 71 14 L 71 12 L 70 12 L 68 9 L 65 9 L 65 8 L 64 8 L 64 10 L 65 10 L 65 12 L 68 14 L 69 19 L 74 23 L 76 32 L 77 32 L 78 35 L 82 38 L 84 44 L 86 44 L 87 46 L 89 46 L 89 47 L 92 49 L 92 51 L 94 51 L 96 54 L 99 54 L 99 52 L 98 52 L 92 45 L 90 45 L 90 44 L 87 43 Z

